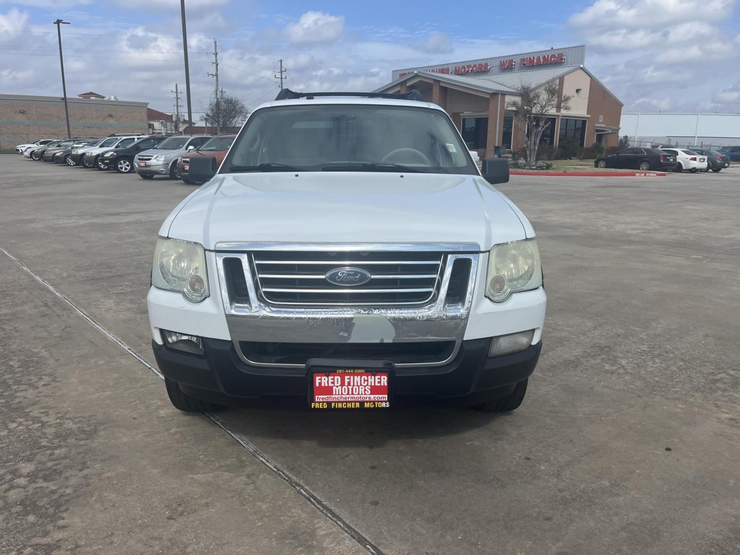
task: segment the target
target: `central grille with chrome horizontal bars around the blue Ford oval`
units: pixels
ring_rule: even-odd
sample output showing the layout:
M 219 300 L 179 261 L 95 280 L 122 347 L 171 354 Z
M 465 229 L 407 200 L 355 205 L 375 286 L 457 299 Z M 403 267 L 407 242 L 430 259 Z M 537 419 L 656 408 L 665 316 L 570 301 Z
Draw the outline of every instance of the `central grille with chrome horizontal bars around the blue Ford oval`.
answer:
M 255 291 L 273 306 L 398 306 L 432 303 L 445 267 L 443 252 L 255 251 L 248 255 Z M 341 286 L 335 269 L 360 269 L 370 279 Z

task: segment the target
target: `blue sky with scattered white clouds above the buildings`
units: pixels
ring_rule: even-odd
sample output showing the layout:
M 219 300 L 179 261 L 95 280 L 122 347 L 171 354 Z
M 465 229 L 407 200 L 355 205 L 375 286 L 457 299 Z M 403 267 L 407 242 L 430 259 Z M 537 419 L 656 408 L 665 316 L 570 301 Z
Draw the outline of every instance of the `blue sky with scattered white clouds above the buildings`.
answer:
M 186 0 L 194 119 L 221 87 L 275 97 L 372 90 L 394 68 L 586 44 L 586 67 L 625 111 L 740 111 L 740 0 L 480 2 Z M 568 6 L 568 7 L 565 7 Z M 0 92 L 58 95 L 56 18 L 70 96 L 89 90 L 174 111 L 184 88 L 179 0 L 0 0 Z M 185 104 L 182 101 L 182 104 Z

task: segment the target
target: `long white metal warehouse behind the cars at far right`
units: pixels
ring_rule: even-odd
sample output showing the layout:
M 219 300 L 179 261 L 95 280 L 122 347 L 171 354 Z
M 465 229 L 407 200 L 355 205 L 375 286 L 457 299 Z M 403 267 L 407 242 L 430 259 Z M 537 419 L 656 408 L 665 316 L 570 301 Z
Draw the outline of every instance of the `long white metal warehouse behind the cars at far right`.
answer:
M 628 135 L 634 145 L 740 145 L 740 114 L 622 112 L 619 127 L 619 134 Z

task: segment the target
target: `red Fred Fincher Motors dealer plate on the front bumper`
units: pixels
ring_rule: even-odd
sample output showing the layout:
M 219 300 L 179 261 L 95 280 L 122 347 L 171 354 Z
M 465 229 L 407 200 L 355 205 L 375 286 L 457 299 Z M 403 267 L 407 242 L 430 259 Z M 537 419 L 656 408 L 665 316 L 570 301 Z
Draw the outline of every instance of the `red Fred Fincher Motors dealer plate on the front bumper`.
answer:
M 388 371 L 331 369 L 312 371 L 311 408 L 388 408 Z

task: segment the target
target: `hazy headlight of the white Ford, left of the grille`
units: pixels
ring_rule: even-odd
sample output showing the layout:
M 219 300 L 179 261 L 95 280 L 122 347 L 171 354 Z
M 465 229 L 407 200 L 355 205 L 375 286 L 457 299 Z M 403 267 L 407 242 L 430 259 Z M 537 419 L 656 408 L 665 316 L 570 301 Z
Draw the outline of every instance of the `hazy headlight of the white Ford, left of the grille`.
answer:
M 198 243 L 158 239 L 152 264 L 152 285 L 181 292 L 187 300 L 200 303 L 208 297 L 206 251 Z

